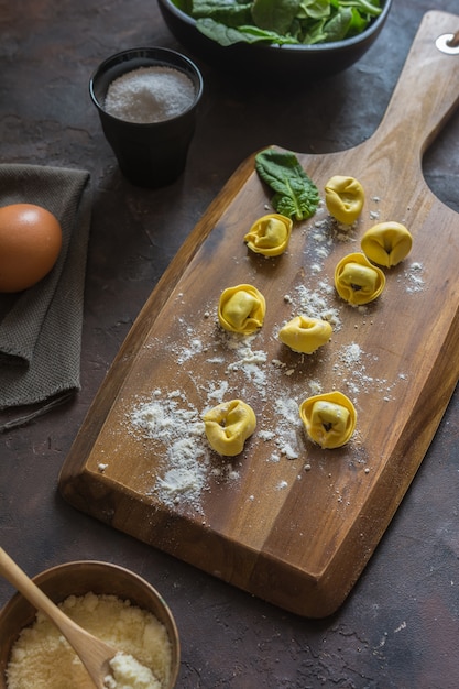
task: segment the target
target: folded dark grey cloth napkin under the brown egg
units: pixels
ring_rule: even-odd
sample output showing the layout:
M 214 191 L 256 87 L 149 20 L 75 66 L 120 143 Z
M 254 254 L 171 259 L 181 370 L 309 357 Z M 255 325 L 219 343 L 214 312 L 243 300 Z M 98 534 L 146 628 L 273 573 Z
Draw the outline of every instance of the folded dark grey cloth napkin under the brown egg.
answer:
M 23 425 L 80 389 L 89 173 L 0 165 L 0 206 L 20 203 L 56 216 L 63 247 L 40 283 L 0 294 L 0 431 Z

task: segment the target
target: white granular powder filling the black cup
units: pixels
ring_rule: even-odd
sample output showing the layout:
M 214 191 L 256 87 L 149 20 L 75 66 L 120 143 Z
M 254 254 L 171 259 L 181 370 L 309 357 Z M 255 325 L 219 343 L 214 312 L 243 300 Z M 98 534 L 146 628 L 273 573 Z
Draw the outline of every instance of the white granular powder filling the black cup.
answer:
M 151 124 L 177 117 L 195 96 L 195 86 L 184 72 L 161 65 L 139 67 L 113 79 L 103 109 L 120 120 Z

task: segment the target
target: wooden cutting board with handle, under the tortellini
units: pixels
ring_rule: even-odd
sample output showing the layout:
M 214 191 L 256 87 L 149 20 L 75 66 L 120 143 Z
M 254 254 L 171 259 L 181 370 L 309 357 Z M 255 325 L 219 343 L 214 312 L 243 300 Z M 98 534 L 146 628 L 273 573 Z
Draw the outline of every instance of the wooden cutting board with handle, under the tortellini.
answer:
M 458 29 L 458 17 L 425 15 L 371 139 L 340 153 L 297 154 L 321 193 L 335 174 L 362 183 L 365 207 L 350 233 L 338 232 L 323 206 L 296 223 L 287 253 L 250 254 L 243 236 L 272 210 L 271 195 L 253 156 L 234 173 L 97 394 L 59 477 L 69 503 L 299 615 L 323 617 L 343 602 L 459 376 L 459 216 L 422 172 L 459 97 L 459 55 L 436 41 Z M 383 220 L 409 228 L 412 253 L 386 271 L 376 302 L 352 308 L 335 293 L 335 265 Z M 216 319 L 220 293 L 240 283 L 255 285 L 267 304 L 251 341 L 230 338 Z M 295 354 L 276 332 L 312 311 L 328 313 L 332 340 Z M 354 402 L 358 426 L 347 446 L 321 450 L 306 439 L 297 405 L 330 390 Z M 253 406 L 258 428 L 242 455 L 223 460 L 209 451 L 199 418 L 233 397 Z

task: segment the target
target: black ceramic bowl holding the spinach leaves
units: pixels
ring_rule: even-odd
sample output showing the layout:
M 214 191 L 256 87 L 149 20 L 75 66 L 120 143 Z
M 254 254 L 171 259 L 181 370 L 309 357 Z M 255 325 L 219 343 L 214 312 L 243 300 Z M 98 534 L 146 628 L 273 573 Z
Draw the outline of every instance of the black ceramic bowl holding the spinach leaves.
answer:
M 283 46 L 237 43 L 223 47 L 200 33 L 195 20 L 178 10 L 173 0 L 157 2 L 176 40 L 210 66 L 241 77 L 271 78 L 282 75 L 284 79 L 295 77 L 303 81 L 337 74 L 356 63 L 379 36 L 392 6 L 392 0 L 383 0 L 381 14 L 365 31 L 345 41 Z

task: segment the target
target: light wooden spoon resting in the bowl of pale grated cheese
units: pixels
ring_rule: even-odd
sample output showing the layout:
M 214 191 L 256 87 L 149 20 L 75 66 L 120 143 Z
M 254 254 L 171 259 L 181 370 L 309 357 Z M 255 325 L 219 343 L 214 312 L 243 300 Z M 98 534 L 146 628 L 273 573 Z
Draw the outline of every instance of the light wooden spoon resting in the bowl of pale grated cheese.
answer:
M 105 677 L 111 675 L 109 663 L 118 652 L 70 620 L 39 589 L 3 548 L 0 548 L 0 575 L 15 587 L 32 605 L 54 622 L 80 658 L 94 685 L 98 689 L 103 689 Z

